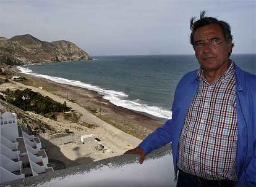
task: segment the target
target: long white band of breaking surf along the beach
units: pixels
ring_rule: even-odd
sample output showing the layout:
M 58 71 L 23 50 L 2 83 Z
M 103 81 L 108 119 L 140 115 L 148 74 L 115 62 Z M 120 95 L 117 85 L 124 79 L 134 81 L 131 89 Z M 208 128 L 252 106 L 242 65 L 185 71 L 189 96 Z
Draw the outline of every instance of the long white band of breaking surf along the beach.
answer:
M 81 81 L 75 81 L 75 80 L 70 80 L 70 79 L 65 79 L 65 78 L 58 78 L 58 77 L 48 76 L 48 75 L 44 75 L 44 74 L 36 74 L 36 73 L 33 73 L 32 70 L 30 70 L 29 68 L 25 68 L 22 66 L 18 66 L 17 68 L 22 73 L 25 73 L 25 74 L 30 74 L 32 76 L 36 76 L 39 78 L 49 79 L 51 81 L 58 82 L 61 84 L 69 84 L 72 86 L 77 86 L 77 87 L 82 87 L 82 88 L 89 89 L 89 90 L 94 90 L 94 91 L 98 92 L 99 94 L 103 95 L 103 98 L 105 98 L 106 100 L 109 100 L 111 103 L 113 103 L 116 106 L 122 106 L 124 108 L 132 109 L 134 111 L 148 113 L 148 114 L 150 114 L 152 116 L 156 116 L 156 117 L 171 119 L 172 112 L 169 111 L 168 109 L 163 109 L 158 106 L 145 105 L 139 99 L 133 100 L 133 101 L 124 100 L 123 98 L 128 97 L 128 95 L 125 94 L 124 92 L 117 92 L 114 90 L 101 89 L 98 86 L 93 86 L 92 84 L 86 84 Z

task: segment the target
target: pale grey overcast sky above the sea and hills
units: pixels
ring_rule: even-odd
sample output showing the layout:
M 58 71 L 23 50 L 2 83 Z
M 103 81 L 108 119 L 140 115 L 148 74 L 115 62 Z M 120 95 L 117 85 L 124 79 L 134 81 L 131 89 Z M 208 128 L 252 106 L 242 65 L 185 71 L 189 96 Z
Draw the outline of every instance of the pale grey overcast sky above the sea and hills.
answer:
M 189 19 L 200 10 L 231 25 L 234 54 L 256 53 L 255 0 L 0 0 L 0 36 L 64 39 L 90 55 L 194 54 Z

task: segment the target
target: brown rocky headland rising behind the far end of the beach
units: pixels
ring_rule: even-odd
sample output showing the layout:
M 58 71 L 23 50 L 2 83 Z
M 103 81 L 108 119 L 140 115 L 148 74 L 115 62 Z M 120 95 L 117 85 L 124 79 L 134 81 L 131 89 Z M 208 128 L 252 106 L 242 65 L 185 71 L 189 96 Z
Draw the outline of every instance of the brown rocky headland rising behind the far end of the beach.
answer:
M 26 65 L 40 62 L 63 62 L 92 59 L 69 41 L 40 41 L 30 34 L 0 37 L 0 63 Z

